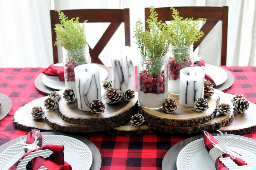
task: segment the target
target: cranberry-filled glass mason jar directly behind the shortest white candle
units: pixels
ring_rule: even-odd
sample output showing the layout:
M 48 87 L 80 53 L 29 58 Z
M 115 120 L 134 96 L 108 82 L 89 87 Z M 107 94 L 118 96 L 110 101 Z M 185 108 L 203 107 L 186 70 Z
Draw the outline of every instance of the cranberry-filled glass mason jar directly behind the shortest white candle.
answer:
M 168 91 L 179 94 L 180 70 L 194 65 L 193 44 L 185 47 L 170 46 L 168 56 Z

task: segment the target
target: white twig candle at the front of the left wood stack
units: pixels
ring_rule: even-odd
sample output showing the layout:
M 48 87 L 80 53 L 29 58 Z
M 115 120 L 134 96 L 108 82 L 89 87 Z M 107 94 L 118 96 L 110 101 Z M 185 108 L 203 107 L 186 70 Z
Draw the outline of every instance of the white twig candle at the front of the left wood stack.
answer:
M 89 111 L 89 103 L 96 99 L 101 100 L 99 66 L 97 64 L 82 64 L 76 66 L 74 71 L 78 108 Z

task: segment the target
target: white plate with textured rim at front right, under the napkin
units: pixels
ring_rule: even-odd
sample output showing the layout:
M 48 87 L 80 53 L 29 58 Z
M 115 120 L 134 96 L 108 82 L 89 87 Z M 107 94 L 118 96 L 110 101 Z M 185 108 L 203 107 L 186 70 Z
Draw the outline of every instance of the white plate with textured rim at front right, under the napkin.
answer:
M 215 136 L 218 142 L 220 137 Z M 242 155 L 249 155 L 256 161 L 256 141 L 252 142 L 238 137 L 226 137 L 227 150 L 237 151 Z M 204 139 L 197 139 L 186 145 L 178 154 L 177 170 L 216 170 L 215 162 L 208 154 Z

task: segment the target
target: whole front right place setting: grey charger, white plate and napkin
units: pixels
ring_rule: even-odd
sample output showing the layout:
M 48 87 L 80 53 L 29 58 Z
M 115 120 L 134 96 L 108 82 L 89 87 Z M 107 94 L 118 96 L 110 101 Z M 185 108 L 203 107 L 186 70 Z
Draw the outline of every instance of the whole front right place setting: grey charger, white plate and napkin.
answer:
M 221 131 L 210 134 L 202 130 L 202 135 L 172 146 L 162 162 L 163 170 L 196 170 L 202 167 L 204 170 L 220 170 L 224 166 L 229 170 L 253 169 L 256 166 L 256 141 Z

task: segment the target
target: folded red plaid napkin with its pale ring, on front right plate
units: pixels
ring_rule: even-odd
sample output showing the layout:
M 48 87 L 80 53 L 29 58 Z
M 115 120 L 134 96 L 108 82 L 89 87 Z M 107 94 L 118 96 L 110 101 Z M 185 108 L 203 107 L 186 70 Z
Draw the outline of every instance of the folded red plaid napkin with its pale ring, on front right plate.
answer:
M 220 160 L 219 158 L 229 157 L 232 159 L 238 166 L 247 165 L 242 159 L 235 157 L 232 154 L 228 154 L 223 146 L 219 145 L 219 142 L 207 131 L 202 130 L 204 145 L 206 150 L 211 155 L 212 159 L 215 161 L 216 170 L 229 170 Z

